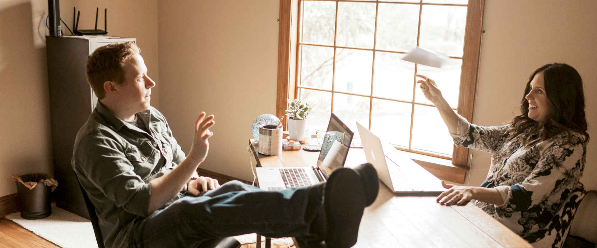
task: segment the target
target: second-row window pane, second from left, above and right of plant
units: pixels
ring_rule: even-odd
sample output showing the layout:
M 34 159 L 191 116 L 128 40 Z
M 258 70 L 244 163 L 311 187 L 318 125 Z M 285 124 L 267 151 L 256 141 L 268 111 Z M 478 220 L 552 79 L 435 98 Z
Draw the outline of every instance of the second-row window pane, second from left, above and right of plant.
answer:
M 337 48 L 334 90 L 370 95 L 372 63 L 372 51 Z

